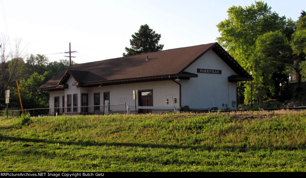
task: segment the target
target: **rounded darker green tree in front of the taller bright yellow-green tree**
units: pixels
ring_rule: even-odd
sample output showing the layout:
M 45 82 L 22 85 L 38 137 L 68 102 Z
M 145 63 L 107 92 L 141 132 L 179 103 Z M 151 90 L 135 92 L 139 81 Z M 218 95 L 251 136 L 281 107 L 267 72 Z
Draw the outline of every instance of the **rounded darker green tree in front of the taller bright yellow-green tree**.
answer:
M 292 49 L 281 31 L 268 32 L 259 36 L 251 60 L 254 82 L 256 88 L 260 88 L 257 93 L 260 92 L 263 98 L 267 98 L 269 94 L 274 95 L 274 88 L 279 83 L 288 82 L 289 72 L 284 72 L 293 64 Z M 250 87 L 247 87 L 246 92 L 250 92 Z M 245 102 L 250 99 L 247 95 Z M 261 102 L 262 98 L 258 99 Z

